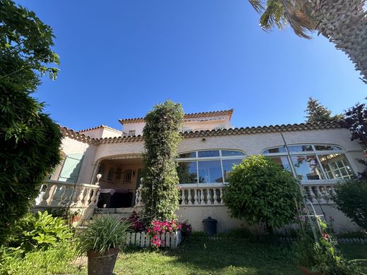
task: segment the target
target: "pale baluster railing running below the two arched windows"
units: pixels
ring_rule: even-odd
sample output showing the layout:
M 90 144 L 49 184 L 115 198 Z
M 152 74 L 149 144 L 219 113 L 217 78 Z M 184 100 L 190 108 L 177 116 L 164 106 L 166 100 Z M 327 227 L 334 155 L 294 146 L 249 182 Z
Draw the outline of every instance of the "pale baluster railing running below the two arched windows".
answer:
M 304 195 L 315 204 L 334 204 L 332 195 L 335 195 L 336 183 L 303 183 Z M 142 185 L 136 190 L 135 206 L 142 206 Z M 223 186 L 186 187 L 179 185 L 180 205 L 222 205 L 224 204 Z

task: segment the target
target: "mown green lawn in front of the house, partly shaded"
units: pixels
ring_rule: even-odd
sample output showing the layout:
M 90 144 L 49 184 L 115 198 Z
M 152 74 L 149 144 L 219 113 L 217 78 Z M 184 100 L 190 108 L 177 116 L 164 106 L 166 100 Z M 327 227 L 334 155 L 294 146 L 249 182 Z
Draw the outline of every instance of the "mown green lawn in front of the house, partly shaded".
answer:
M 367 245 L 342 245 L 349 259 L 367 259 Z M 86 274 L 82 271 L 81 274 Z M 287 245 L 191 238 L 176 250 L 121 253 L 115 274 L 301 274 Z M 78 274 L 78 273 L 76 273 Z

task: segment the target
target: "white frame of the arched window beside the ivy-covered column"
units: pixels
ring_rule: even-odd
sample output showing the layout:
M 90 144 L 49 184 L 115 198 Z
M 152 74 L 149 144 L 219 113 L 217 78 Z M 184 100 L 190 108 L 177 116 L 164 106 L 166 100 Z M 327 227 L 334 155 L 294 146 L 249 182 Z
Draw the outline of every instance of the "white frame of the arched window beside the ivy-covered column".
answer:
M 222 150 L 223 151 L 235 151 L 235 152 L 240 152 L 243 154 L 243 156 L 222 156 Z M 198 152 L 203 152 L 203 151 L 219 151 L 219 157 L 198 157 Z M 227 182 L 224 181 L 224 171 L 223 171 L 223 164 L 222 164 L 222 160 L 225 159 L 246 159 L 247 154 L 245 152 L 243 152 L 240 149 L 200 149 L 200 150 L 195 150 L 195 151 L 187 151 L 187 152 L 180 152 L 179 154 L 186 154 L 186 153 L 192 153 L 195 152 L 195 156 L 196 157 L 190 157 L 190 158 L 176 158 L 175 161 L 176 163 L 178 162 L 193 162 L 196 161 L 196 173 L 197 173 L 197 183 L 179 183 L 179 185 L 182 185 L 183 187 L 207 187 L 207 186 L 211 186 L 211 187 L 221 187 L 225 184 L 227 184 Z M 199 183 L 199 161 L 220 161 L 220 166 L 222 169 L 222 177 L 223 177 L 223 183 Z

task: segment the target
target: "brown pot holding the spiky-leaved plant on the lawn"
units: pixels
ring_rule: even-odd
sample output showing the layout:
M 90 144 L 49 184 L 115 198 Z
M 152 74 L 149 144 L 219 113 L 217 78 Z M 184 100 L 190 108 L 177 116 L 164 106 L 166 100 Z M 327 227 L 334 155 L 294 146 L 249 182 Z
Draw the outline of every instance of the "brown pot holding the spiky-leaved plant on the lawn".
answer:
M 88 251 L 88 275 L 112 275 L 119 251 L 119 248 L 111 248 L 102 255 Z

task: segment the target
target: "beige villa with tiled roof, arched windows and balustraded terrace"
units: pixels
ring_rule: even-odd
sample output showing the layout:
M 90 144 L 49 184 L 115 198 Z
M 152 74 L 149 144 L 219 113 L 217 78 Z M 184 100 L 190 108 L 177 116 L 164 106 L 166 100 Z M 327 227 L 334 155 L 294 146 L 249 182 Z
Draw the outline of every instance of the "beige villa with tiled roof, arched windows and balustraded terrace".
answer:
M 219 231 L 241 226 L 244 221 L 227 213 L 222 187 L 233 164 L 264 154 L 294 173 L 316 212 L 332 217 L 335 228 L 356 228 L 330 199 L 337 181 L 364 168 L 356 161 L 364 158 L 363 149 L 351 141 L 349 130 L 335 122 L 234 128 L 232 114 L 233 109 L 184 116 L 176 159 L 181 219 L 188 219 L 196 231 L 203 230 L 207 216 L 217 219 Z M 69 202 L 84 216 L 126 216 L 141 209 L 144 119 L 119 122 L 121 130 L 103 125 L 78 131 L 61 127 L 64 161 L 42 186 L 36 209 Z

